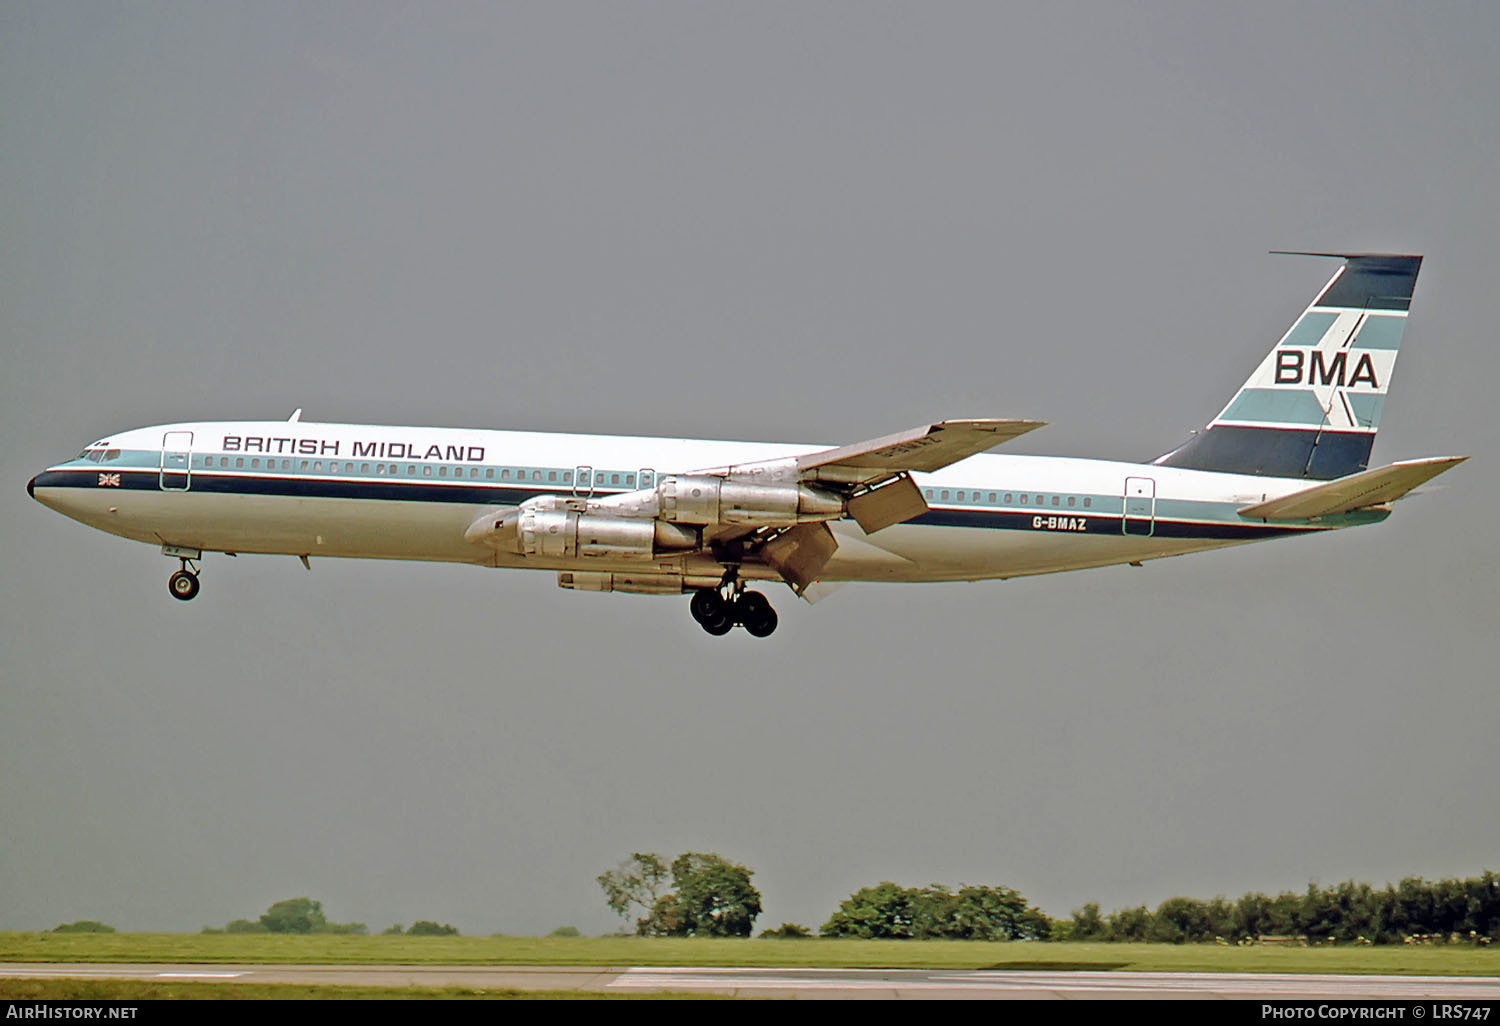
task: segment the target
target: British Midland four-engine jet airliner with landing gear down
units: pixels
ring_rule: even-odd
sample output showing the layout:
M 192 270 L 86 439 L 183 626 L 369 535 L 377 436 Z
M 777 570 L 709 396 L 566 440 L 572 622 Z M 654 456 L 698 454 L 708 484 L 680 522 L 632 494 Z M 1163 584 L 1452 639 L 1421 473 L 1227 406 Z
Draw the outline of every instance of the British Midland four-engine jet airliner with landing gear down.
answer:
M 561 588 L 692 596 L 710 634 L 771 634 L 747 584 L 984 580 L 1378 524 L 1466 456 L 1370 468 L 1422 266 L 1342 261 L 1202 432 L 1149 462 L 986 454 L 1036 420 L 942 420 L 854 446 L 302 420 L 138 428 L 27 483 L 88 526 L 206 552 L 429 560 Z

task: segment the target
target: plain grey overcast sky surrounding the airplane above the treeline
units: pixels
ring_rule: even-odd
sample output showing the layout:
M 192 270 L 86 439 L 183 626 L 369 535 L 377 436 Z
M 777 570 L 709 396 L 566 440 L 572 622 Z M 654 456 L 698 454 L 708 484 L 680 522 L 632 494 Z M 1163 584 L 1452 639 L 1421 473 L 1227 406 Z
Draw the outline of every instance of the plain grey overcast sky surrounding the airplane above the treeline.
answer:
M 1053 915 L 1500 868 L 1492 3 L 0 0 L 0 928 L 618 922 L 633 850 Z M 1426 255 L 1383 525 L 686 600 L 176 562 L 27 498 L 309 420 L 1150 459 L 1336 264 Z

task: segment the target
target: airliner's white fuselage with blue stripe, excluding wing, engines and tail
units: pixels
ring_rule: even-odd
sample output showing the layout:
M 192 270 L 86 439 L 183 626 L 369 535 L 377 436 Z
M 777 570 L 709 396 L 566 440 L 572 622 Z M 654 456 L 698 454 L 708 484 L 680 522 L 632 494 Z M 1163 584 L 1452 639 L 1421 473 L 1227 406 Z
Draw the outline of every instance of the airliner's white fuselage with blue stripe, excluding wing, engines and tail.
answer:
M 495 567 L 716 573 L 706 552 L 544 560 L 465 540 L 486 512 L 538 495 L 608 495 L 664 474 L 796 456 L 825 446 L 558 435 L 302 422 L 141 428 L 32 482 L 46 506 L 90 526 L 204 552 L 435 560 Z M 916 474 L 930 510 L 866 536 L 831 524 L 824 580 L 978 580 L 1154 560 L 1368 524 L 1246 522 L 1238 510 L 1305 480 L 1036 456 L 972 456 Z M 744 576 L 776 579 L 766 566 Z

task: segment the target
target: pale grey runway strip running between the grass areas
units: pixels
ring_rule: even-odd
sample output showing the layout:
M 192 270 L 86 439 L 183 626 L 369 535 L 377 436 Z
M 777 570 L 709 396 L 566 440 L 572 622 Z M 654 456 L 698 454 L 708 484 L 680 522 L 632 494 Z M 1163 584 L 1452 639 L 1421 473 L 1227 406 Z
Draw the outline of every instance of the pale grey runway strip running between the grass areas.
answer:
M 1226 972 L 1014 972 L 968 969 L 746 969 L 596 966 L 294 966 L 8 963 L 6 980 L 286 982 L 582 993 L 714 993 L 870 999 L 1500 999 L 1500 976 L 1332 976 Z

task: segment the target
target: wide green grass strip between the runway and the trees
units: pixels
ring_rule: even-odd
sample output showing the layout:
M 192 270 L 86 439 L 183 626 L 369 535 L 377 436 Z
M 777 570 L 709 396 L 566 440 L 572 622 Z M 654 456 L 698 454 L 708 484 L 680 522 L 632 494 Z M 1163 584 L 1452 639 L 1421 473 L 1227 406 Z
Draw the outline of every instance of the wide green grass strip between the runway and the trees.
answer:
M 0 962 L 844 966 L 1500 976 L 1500 950 L 1468 945 L 1234 948 L 980 940 L 0 933 Z

